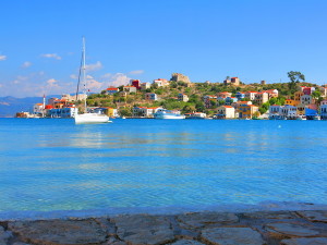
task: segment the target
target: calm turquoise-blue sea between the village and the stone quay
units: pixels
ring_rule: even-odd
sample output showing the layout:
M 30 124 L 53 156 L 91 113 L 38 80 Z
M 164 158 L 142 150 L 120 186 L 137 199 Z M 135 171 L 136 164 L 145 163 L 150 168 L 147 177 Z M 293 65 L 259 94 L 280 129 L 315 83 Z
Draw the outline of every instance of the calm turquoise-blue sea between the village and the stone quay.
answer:
M 327 204 L 326 126 L 0 119 L 0 212 Z

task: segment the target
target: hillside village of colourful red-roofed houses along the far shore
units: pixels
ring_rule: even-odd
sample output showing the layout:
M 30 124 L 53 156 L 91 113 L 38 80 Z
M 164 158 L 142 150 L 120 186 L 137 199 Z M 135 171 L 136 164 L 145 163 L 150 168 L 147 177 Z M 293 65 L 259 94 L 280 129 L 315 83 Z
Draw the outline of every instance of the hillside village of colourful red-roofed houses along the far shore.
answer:
M 192 83 L 180 73 L 173 73 L 169 81 L 131 79 L 99 94 L 65 94 L 48 101 L 44 98 L 34 105 L 32 113 L 17 112 L 16 118 L 74 118 L 83 111 L 82 101 L 86 99 L 87 111 L 110 118 L 153 119 L 159 109 L 168 109 L 185 119 L 326 120 L 327 86 L 300 82 L 299 74 L 290 72 L 291 82 L 283 84 L 244 84 L 229 76 L 222 83 Z

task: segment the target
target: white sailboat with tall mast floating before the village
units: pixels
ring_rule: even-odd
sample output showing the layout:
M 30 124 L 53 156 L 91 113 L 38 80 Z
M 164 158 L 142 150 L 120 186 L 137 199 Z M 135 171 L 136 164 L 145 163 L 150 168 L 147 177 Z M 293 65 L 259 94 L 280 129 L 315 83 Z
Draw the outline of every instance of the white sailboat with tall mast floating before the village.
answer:
M 82 60 L 81 60 L 81 66 L 80 66 L 80 74 L 78 74 L 78 85 L 77 85 L 77 91 L 76 91 L 76 101 L 78 98 L 78 88 L 80 88 L 80 78 L 81 78 L 81 72 L 82 72 L 82 82 L 83 82 L 83 94 L 84 96 L 84 113 L 78 114 L 75 113 L 75 123 L 82 124 L 82 123 L 109 123 L 109 117 L 106 114 L 102 114 L 101 111 L 98 113 L 95 112 L 87 112 L 87 105 L 86 105 L 86 71 L 85 71 L 85 38 L 83 37 L 83 50 L 82 50 Z

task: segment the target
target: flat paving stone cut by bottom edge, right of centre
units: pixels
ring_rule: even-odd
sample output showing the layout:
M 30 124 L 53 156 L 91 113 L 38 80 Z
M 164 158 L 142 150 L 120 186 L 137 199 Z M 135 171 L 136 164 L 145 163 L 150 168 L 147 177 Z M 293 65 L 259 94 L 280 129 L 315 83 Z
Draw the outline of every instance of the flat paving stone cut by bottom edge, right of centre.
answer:
M 251 228 L 214 228 L 201 234 L 204 243 L 215 245 L 263 245 L 262 235 Z

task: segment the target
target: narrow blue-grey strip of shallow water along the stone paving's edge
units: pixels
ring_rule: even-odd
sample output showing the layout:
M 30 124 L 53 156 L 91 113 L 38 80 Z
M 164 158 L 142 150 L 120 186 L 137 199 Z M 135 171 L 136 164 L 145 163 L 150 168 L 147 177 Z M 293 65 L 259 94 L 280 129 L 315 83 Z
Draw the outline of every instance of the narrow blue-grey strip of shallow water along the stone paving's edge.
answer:
M 257 212 L 257 211 L 302 211 L 326 210 L 327 204 L 294 201 L 261 201 L 258 204 L 221 204 L 202 206 L 159 206 L 159 207 L 108 207 L 80 210 L 0 210 L 0 222 L 10 220 L 49 220 L 74 217 L 87 219 L 104 216 L 140 215 L 174 216 L 183 212 Z

